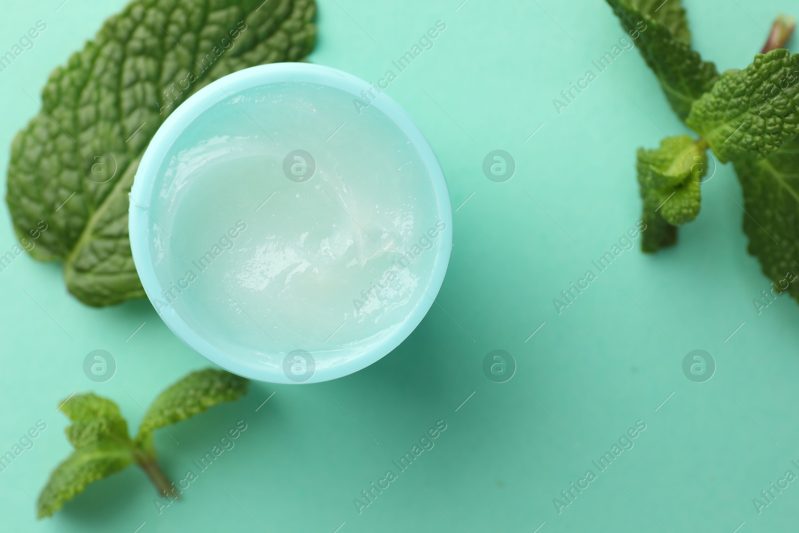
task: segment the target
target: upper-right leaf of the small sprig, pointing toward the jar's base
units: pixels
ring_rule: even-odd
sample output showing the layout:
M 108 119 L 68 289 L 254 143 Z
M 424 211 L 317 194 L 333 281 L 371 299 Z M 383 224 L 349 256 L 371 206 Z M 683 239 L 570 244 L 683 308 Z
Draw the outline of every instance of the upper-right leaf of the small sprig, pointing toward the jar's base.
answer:
M 222 402 L 238 400 L 247 392 L 249 380 L 225 370 L 206 368 L 171 385 L 153 401 L 141 420 L 137 444 L 152 450 L 153 431 L 175 424 Z

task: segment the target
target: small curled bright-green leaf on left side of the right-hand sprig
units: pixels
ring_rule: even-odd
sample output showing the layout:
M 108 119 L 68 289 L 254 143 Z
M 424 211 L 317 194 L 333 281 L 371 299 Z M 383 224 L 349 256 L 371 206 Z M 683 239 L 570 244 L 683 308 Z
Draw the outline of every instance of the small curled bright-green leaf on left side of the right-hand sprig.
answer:
M 646 224 L 644 252 L 673 245 L 676 226 L 696 218 L 706 163 L 705 149 L 687 135 L 663 139 L 658 149 L 638 149 L 636 169 Z

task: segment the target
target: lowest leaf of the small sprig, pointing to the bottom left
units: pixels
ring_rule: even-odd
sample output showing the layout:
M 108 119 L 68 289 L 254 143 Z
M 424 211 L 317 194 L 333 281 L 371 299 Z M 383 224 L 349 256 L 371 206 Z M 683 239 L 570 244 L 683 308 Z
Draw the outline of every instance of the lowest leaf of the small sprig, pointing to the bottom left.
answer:
M 50 474 L 39 495 L 36 515 L 52 515 L 64 502 L 80 494 L 86 485 L 127 467 L 133 461 L 133 449 L 113 442 L 97 442 L 80 447 Z

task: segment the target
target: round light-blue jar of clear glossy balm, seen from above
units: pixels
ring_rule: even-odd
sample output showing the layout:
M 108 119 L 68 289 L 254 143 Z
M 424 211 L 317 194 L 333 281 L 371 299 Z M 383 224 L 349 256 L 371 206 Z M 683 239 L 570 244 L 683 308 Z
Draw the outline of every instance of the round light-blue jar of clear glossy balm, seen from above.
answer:
M 189 97 L 130 197 L 133 260 L 161 318 L 254 380 L 331 380 L 391 352 L 451 252 L 447 185 L 410 117 L 308 63 L 241 70 Z

